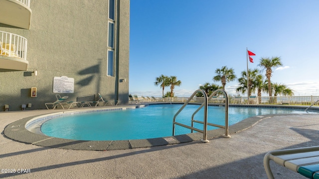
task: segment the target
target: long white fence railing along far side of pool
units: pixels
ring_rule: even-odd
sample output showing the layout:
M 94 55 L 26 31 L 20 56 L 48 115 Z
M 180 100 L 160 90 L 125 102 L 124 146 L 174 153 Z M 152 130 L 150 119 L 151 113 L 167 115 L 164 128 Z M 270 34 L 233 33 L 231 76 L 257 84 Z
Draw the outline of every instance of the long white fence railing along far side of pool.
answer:
M 143 102 L 185 102 L 188 97 L 155 97 L 155 99 L 149 99 L 140 97 Z M 202 102 L 203 97 L 194 97 L 190 102 Z M 285 104 L 285 105 L 312 105 L 319 100 L 319 96 L 251 96 L 251 97 L 228 97 L 229 104 Z M 208 103 L 225 103 L 224 97 L 212 97 Z M 319 106 L 319 101 L 314 104 Z

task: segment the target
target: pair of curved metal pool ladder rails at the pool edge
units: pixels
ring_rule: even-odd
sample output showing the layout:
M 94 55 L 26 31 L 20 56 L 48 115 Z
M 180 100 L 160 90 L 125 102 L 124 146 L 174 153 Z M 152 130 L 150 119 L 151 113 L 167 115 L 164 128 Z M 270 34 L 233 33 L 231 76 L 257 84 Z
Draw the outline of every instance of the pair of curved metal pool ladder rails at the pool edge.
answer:
M 192 114 L 191 116 L 191 126 L 187 126 L 185 124 L 181 124 L 176 122 L 176 117 L 177 115 L 184 109 L 184 107 L 190 102 L 190 100 L 192 100 L 192 98 L 198 93 L 202 93 L 204 96 L 204 101 L 203 103 L 197 108 L 197 110 Z M 222 92 L 225 95 L 225 126 L 222 125 L 218 125 L 218 124 L 212 124 L 212 123 L 208 123 L 207 122 L 207 111 L 208 111 L 208 100 L 211 99 L 214 95 L 217 94 L 217 92 Z M 204 118 L 203 121 L 197 121 L 194 120 L 194 116 L 195 114 L 202 108 L 204 107 Z M 194 128 L 194 122 L 197 123 L 201 123 L 203 124 L 203 130 L 201 129 L 197 129 Z M 224 128 L 225 129 L 225 134 L 223 135 L 223 137 L 225 138 L 230 138 L 230 135 L 228 134 L 228 95 L 227 92 L 223 89 L 217 89 L 215 90 L 209 97 L 207 97 L 207 94 L 204 90 L 202 89 L 197 89 L 189 98 L 188 100 L 180 107 L 180 109 L 176 112 L 176 114 L 173 117 L 173 136 L 175 135 L 175 125 L 179 125 L 185 128 L 188 128 L 191 130 L 191 133 L 193 133 L 193 131 L 197 131 L 200 133 L 203 133 L 203 139 L 201 140 L 202 142 L 209 142 L 209 140 L 207 140 L 207 125 L 210 126 L 214 126 L 214 127 L 219 127 L 219 128 Z

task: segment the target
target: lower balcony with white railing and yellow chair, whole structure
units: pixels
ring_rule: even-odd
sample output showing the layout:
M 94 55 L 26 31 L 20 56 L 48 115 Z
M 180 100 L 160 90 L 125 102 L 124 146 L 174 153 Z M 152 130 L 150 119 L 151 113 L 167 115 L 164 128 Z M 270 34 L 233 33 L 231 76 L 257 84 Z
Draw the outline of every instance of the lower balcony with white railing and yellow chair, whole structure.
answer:
M 26 49 L 26 38 L 0 31 L 0 69 L 26 71 Z

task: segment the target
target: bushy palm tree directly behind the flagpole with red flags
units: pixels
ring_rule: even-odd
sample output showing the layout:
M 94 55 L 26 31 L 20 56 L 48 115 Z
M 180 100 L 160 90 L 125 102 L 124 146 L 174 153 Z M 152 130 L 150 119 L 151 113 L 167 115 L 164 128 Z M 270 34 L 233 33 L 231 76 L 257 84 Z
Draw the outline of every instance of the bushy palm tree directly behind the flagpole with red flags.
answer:
M 258 91 L 258 93 L 260 90 L 260 96 L 261 96 L 260 86 L 263 83 L 262 82 L 263 76 L 260 74 L 260 71 L 258 69 L 254 69 L 254 70 L 249 69 L 248 74 L 249 74 L 248 96 L 250 96 L 251 93 L 255 92 L 256 90 Z M 239 83 L 239 87 L 236 89 L 236 91 L 244 94 L 247 91 L 247 72 L 246 71 L 241 72 L 241 78 L 238 79 L 238 83 Z

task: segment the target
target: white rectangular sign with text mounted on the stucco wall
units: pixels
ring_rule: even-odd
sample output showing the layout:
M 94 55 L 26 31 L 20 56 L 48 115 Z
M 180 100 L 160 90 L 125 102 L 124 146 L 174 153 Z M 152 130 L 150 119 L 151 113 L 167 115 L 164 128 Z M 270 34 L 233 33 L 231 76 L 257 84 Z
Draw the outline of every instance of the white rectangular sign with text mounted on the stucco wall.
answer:
M 74 78 L 54 77 L 53 78 L 53 93 L 73 93 Z

